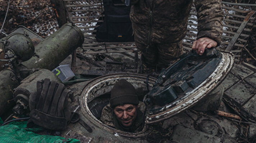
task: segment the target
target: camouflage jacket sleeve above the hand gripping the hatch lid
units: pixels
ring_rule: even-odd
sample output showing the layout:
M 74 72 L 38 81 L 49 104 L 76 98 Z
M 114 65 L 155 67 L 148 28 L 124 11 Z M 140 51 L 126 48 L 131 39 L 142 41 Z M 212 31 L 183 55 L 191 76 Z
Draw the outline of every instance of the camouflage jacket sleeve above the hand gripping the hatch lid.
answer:
M 195 0 L 198 19 L 197 39 L 208 37 L 215 40 L 219 46 L 223 32 L 223 11 L 220 0 Z

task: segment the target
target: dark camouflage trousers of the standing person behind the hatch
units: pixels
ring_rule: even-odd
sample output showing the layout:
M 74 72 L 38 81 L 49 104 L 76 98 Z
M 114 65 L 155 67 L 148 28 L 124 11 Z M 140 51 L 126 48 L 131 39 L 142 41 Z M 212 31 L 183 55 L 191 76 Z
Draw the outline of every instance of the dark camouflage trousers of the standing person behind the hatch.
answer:
M 136 46 L 142 52 L 142 64 L 147 69 L 155 69 L 158 67 L 166 68 L 170 64 L 177 61 L 178 57 L 183 53 L 182 41 L 178 43 L 154 43 L 149 46 L 135 39 Z

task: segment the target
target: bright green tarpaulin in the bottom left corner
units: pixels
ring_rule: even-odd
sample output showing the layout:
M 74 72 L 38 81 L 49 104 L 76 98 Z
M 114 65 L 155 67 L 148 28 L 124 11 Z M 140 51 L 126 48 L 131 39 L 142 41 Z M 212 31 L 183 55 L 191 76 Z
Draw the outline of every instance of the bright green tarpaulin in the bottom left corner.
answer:
M 0 118 L 0 125 L 3 120 Z M 65 139 L 58 136 L 40 135 L 43 128 L 27 128 L 27 121 L 13 122 L 0 127 L 0 143 L 80 143 L 77 139 Z

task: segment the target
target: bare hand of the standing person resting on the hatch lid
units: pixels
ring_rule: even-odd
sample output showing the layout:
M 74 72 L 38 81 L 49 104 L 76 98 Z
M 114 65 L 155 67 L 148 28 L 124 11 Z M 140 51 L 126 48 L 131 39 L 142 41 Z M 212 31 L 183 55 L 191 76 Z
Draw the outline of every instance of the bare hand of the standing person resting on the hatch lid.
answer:
M 194 41 L 192 50 L 196 50 L 196 53 L 202 55 L 205 52 L 205 48 L 216 47 L 217 42 L 207 37 L 199 38 Z

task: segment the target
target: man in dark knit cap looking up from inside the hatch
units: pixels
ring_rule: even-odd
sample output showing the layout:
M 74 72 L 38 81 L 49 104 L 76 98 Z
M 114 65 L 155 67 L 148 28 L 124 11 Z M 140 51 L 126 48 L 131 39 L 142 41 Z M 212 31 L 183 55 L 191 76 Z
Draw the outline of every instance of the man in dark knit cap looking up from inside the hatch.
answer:
M 143 105 L 133 85 L 127 80 L 120 80 L 113 86 L 110 104 L 102 109 L 100 120 L 118 130 L 140 132 L 143 129 Z

